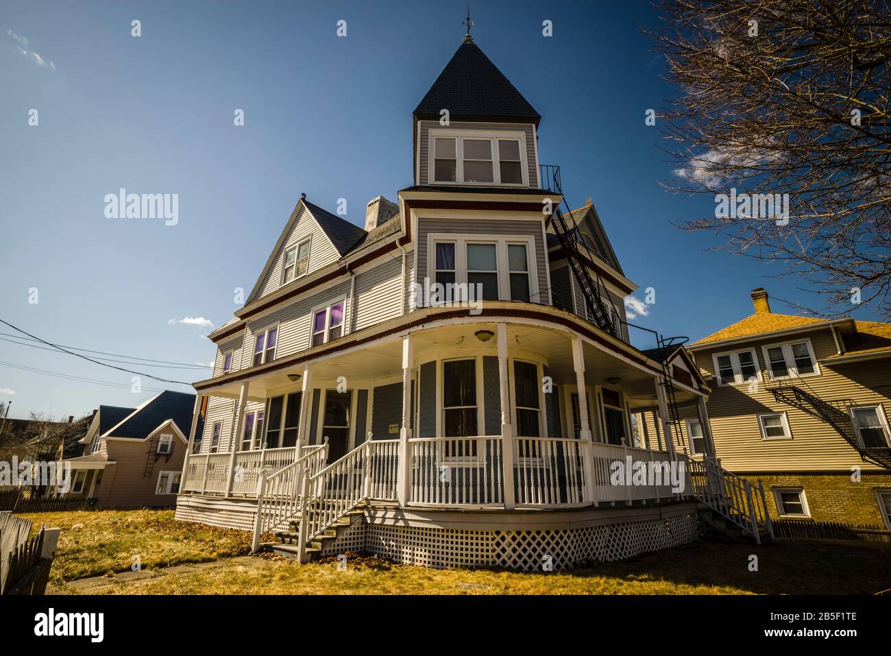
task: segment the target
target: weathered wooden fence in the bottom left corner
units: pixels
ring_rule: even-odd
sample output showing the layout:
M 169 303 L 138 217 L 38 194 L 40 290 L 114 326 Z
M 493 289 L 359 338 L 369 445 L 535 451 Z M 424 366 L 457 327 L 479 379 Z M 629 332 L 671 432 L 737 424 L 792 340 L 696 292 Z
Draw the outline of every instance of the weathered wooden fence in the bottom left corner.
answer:
M 0 594 L 44 594 L 59 529 L 40 527 L 34 537 L 31 521 L 0 512 Z

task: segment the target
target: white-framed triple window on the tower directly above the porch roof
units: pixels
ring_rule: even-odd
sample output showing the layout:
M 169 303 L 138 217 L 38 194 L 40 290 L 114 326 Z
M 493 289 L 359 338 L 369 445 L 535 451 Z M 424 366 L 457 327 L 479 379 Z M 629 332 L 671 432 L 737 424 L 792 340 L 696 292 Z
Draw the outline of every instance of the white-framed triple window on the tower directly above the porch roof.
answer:
M 520 235 L 430 234 L 427 275 L 445 291 L 444 298 L 429 299 L 431 305 L 458 299 L 454 284 L 481 285 L 483 300 L 536 299 L 534 248 L 532 237 Z M 472 289 L 476 294 L 476 287 Z

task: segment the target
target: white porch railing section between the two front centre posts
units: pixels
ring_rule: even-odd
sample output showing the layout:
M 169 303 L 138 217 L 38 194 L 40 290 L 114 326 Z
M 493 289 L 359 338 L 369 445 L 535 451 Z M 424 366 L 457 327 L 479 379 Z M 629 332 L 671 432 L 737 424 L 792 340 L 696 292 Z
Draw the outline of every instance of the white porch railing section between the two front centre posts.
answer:
M 413 438 L 410 501 L 415 505 L 504 503 L 501 436 Z

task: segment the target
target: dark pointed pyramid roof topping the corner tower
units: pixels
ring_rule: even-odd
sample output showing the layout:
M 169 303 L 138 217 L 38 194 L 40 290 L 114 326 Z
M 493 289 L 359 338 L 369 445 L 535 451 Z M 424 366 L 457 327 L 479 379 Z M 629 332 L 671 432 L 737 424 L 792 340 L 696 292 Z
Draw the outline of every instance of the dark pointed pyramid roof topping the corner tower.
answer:
M 414 115 L 438 119 L 441 110 L 448 110 L 452 120 L 526 119 L 537 126 L 542 118 L 472 41 L 465 41 L 454 53 Z

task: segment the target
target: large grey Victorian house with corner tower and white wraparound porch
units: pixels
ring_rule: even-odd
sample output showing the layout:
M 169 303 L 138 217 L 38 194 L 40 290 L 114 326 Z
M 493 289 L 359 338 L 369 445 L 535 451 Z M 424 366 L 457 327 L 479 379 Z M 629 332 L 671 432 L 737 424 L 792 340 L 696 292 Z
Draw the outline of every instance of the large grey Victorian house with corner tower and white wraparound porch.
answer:
M 274 535 L 301 560 L 527 570 L 689 542 L 703 501 L 761 534 L 758 490 L 712 459 L 683 348 L 630 344 L 635 285 L 593 206 L 568 211 L 539 162 L 540 118 L 465 38 L 413 112 L 396 202 L 373 199 L 360 228 L 298 201 L 210 335 L 179 519 Z M 481 302 L 431 299 L 433 283 Z M 707 458 L 672 439 L 676 405 L 699 412 Z M 640 413 L 656 434 L 637 434 Z M 616 484 L 616 463 L 675 463 L 683 484 Z

